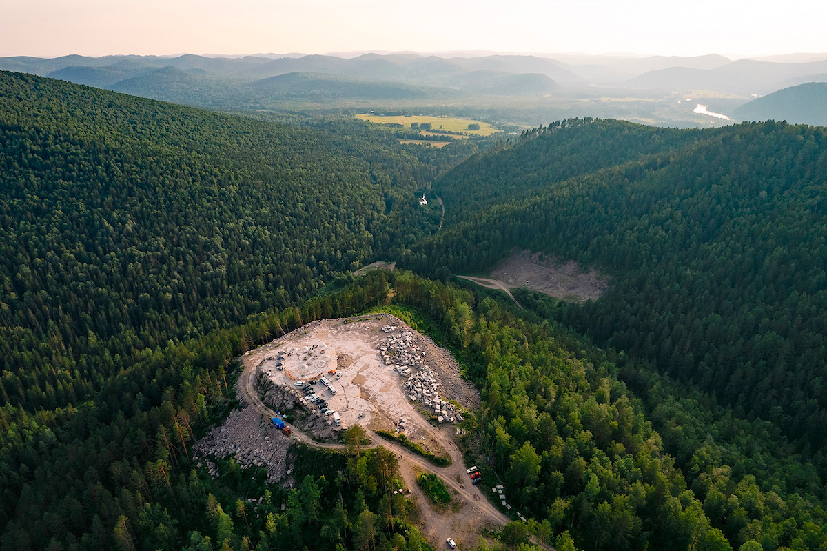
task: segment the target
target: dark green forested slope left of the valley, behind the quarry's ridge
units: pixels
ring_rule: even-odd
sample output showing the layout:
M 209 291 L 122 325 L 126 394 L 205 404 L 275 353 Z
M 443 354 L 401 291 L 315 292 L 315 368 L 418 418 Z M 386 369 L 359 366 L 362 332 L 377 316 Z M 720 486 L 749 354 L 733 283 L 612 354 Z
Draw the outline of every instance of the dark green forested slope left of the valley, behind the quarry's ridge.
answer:
M 414 193 L 433 168 L 393 140 L 0 87 L 3 403 L 77 404 L 136 350 L 308 296 L 438 222 Z

